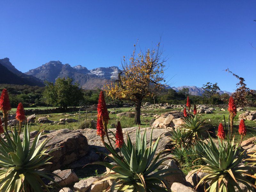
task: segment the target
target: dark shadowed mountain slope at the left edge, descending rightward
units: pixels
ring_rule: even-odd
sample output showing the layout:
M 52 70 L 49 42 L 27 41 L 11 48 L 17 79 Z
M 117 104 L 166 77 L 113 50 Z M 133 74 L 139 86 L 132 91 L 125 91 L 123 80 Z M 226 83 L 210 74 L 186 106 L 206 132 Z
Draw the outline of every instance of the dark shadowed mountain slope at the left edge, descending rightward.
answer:
M 0 59 L 1 65 L 1 76 L 0 82 L 4 84 L 18 84 L 18 85 L 31 85 L 31 86 L 44 86 L 44 83 L 34 77 L 29 76 L 18 69 L 16 69 L 12 63 L 10 62 L 9 58 Z

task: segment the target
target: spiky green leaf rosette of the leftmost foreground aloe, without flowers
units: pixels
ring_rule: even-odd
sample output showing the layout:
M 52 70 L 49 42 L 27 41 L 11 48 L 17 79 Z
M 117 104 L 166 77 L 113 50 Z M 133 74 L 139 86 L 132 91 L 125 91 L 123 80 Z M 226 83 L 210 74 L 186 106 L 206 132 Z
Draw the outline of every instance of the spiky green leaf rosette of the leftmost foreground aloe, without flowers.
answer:
M 52 158 L 46 153 L 45 145 L 49 139 L 45 139 L 39 145 L 42 132 L 39 132 L 30 146 L 29 127 L 25 126 L 23 140 L 14 127 L 12 137 L 5 134 L 6 140 L 0 137 L 0 191 L 8 192 L 43 192 L 43 188 L 49 191 L 41 178 L 46 178 L 56 183 L 50 176 L 56 174 L 37 170 L 43 165 L 50 164 Z

